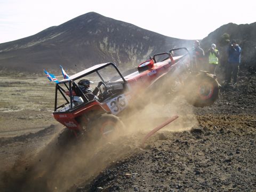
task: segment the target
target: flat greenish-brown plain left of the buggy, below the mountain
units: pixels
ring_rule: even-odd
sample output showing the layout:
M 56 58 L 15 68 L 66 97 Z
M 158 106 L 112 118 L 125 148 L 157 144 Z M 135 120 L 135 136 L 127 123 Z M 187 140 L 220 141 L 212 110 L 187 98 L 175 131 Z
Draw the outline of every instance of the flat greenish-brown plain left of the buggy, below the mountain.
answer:
M 0 77 L 0 137 L 15 137 L 56 124 L 55 86 L 45 77 Z

